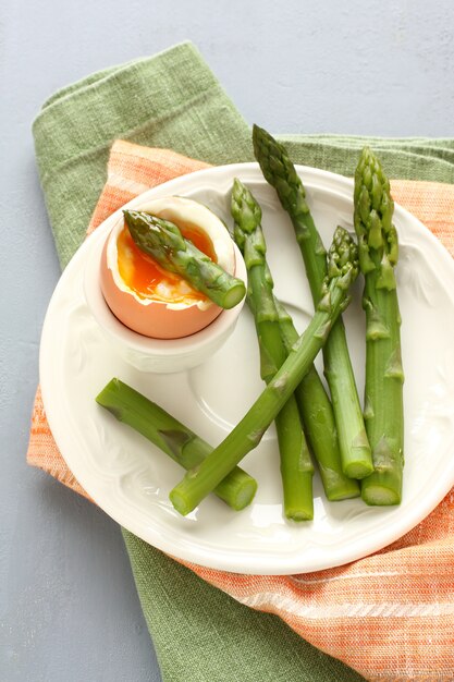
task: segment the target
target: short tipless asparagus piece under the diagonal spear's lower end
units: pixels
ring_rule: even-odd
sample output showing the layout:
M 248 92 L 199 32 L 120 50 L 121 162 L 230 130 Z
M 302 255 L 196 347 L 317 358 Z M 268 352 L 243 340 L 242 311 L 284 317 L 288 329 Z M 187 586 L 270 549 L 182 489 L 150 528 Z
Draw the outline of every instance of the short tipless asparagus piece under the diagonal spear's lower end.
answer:
M 197 466 L 213 450 L 187 426 L 120 379 L 111 379 L 96 401 L 186 470 Z M 213 492 L 229 507 L 240 511 L 250 504 L 256 490 L 255 478 L 236 466 Z

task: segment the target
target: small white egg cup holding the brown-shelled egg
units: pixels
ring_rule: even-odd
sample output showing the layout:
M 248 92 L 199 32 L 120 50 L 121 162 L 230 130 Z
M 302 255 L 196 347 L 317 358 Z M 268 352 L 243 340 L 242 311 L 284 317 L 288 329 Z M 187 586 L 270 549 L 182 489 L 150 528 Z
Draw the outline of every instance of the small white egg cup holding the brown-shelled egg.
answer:
M 110 228 L 112 223 L 110 222 Z M 139 372 L 171 374 L 201 365 L 225 343 L 235 329 L 245 299 L 230 310 L 222 310 L 207 327 L 181 339 L 151 339 L 123 325 L 110 310 L 100 285 L 100 261 L 109 226 L 100 226 L 89 238 L 91 248 L 84 271 L 84 293 L 88 308 L 108 341 L 128 364 Z M 247 285 L 243 256 L 234 246 L 235 277 Z

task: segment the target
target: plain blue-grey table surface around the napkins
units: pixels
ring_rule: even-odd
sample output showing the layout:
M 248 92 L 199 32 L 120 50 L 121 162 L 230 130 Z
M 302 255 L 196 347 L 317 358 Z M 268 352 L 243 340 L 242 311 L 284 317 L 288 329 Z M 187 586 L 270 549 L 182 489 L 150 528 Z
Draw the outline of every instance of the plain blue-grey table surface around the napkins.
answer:
M 191 39 L 249 123 L 452 136 L 453 25 L 452 0 L 3 0 L 0 680 L 160 680 L 119 527 L 25 464 L 40 329 L 59 278 L 30 135 L 41 102 L 93 71 Z

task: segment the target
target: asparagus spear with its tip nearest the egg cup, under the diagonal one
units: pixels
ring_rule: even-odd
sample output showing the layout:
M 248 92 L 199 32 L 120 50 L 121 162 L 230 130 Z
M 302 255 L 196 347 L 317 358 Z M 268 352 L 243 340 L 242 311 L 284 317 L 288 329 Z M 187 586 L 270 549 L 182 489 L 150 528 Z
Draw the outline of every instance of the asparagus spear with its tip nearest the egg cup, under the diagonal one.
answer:
M 261 209 L 249 190 L 237 179 L 233 182 L 231 212 L 234 219 L 233 238 L 244 256 L 248 273 L 247 303 L 256 324 L 260 375 L 269 383 L 287 353 L 274 304 L 273 280 L 266 259 Z M 277 415 L 275 428 L 285 516 L 294 521 L 314 519 L 314 466 L 294 395 Z

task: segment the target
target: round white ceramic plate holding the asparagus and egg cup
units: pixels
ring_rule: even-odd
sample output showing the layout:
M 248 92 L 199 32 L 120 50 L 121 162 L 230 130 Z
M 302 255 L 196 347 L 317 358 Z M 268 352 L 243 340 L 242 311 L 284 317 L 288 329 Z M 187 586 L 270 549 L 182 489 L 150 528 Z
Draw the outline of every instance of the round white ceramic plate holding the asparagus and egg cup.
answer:
M 328 245 L 336 224 L 352 228 L 349 180 L 299 167 L 316 222 Z M 291 223 L 255 163 L 199 171 L 165 183 L 130 206 L 180 194 L 209 205 L 225 221 L 238 176 L 263 209 L 275 292 L 303 330 L 312 309 Z M 274 427 L 242 462 L 258 479 L 253 504 L 233 512 L 210 496 L 187 517 L 168 495 L 183 476 L 174 462 L 118 423 L 95 397 L 119 377 L 161 404 L 212 444 L 240 421 L 262 389 L 249 312 L 231 339 L 204 365 L 174 375 L 140 374 L 109 346 L 83 294 L 87 254 L 103 240 L 109 219 L 66 267 L 47 313 L 40 352 L 44 402 L 57 443 L 75 477 L 115 521 L 165 552 L 226 571 L 290 574 L 340 565 L 397 539 L 421 521 L 454 484 L 454 261 L 407 211 L 395 209 L 405 382 L 405 484 L 397 508 L 368 508 L 359 499 L 327 502 L 315 476 L 314 522 L 283 519 Z M 361 282 L 344 319 L 358 389 L 364 387 Z

